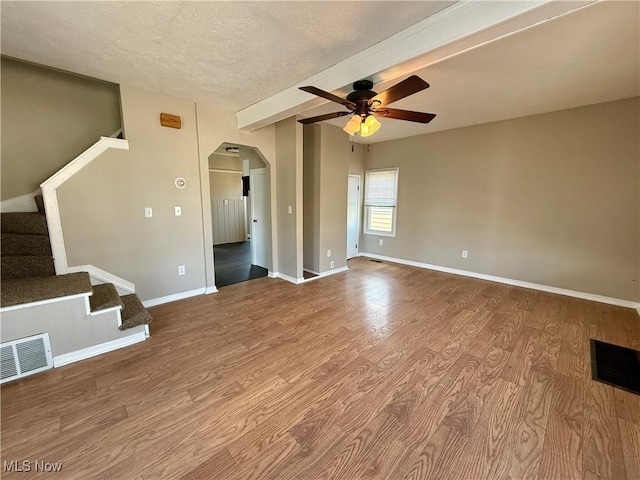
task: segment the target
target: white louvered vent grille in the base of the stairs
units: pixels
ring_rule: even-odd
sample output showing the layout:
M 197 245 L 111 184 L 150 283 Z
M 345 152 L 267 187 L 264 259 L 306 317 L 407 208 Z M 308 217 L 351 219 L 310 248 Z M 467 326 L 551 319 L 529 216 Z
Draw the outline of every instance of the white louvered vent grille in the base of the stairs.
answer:
M 20 338 L 0 345 L 0 383 L 53 368 L 48 333 Z

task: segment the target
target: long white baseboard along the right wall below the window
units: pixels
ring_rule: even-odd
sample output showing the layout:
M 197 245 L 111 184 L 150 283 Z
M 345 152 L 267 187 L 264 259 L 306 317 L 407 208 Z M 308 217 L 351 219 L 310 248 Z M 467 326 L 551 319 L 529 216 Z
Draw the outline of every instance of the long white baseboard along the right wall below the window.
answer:
M 523 282 L 521 280 L 513 280 L 511 278 L 496 277 L 494 275 L 486 275 L 484 273 L 469 272 L 466 270 L 458 270 L 457 268 L 441 267 L 439 265 L 431 265 L 429 263 L 414 262 L 413 260 L 404 260 L 402 258 L 387 257 L 385 255 L 377 255 L 375 253 L 361 252 L 360 256 L 369 257 L 376 260 L 384 260 L 387 262 L 400 263 L 402 265 L 410 265 L 412 267 L 426 268 L 428 270 L 436 270 L 438 272 L 453 273 L 454 275 L 463 275 L 465 277 L 479 278 L 481 280 L 489 280 L 491 282 L 504 283 L 516 287 L 530 288 L 532 290 L 540 290 L 547 293 L 556 293 L 558 295 L 566 295 L 567 297 L 581 298 L 583 300 L 591 300 L 594 302 L 607 303 L 609 305 L 617 305 L 619 307 L 635 308 L 640 313 L 640 303 L 630 300 L 622 300 L 620 298 L 605 297 L 593 293 L 578 292 L 568 290 L 566 288 L 550 287 L 538 283 Z

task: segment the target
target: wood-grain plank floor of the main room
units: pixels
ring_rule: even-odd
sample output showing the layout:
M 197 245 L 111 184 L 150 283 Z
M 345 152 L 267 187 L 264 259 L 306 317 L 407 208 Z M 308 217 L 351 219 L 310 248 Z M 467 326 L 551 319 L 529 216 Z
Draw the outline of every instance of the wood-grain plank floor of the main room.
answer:
M 151 309 L 142 344 L 2 387 L 3 478 L 640 478 L 634 310 L 349 262 Z

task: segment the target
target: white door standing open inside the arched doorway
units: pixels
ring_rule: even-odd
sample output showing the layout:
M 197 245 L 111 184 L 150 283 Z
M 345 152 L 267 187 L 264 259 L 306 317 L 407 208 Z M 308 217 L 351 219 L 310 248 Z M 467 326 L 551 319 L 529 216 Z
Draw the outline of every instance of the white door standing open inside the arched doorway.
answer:
M 266 168 L 251 170 L 251 263 L 269 268 L 271 238 L 271 208 L 269 206 L 269 175 Z

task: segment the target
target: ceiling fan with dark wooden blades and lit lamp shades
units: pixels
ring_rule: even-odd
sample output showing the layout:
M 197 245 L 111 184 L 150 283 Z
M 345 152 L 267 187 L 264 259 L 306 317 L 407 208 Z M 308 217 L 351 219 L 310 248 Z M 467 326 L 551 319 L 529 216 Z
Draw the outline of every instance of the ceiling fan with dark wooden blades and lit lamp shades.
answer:
M 412 112 L 411 110 L 400 110 L 386 106 L 389 103 L 429 88 L 429 84 L 416 75 L 410 76 L 381 93 L 374 92 L 371 90 L 372 88 L 373 82 L 371 80 L 358 80 L 353 84 L 353 92 L 347 95 L 345 99 L 316 87 L 300 87 L 302 91 L 344 105 L 350 111 L 327 113 L 298 121 L 307 125 L 353 114 L 353 117 L 347 122 L 343 130 L 349 135 L 355 135 L 360 131 L 360 136 L 368 137 L 380 128 L 380 122 L 375 117 L 395 118 L 418 123 L 429 123 L 435 118 L 433 113 Z

